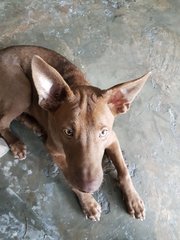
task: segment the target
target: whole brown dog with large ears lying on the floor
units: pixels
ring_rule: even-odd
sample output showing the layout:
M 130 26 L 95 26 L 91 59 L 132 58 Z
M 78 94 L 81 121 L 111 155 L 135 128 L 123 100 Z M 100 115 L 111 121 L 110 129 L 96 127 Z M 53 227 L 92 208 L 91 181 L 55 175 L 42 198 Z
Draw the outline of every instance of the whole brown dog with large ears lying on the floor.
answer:
M 102 183 L 106 153 L 117 169 L 128 212 L 144 219 L 143 201 L 112 126 L 114 117 L 129 109 L 150 74 L 101 90 L 90 86 L 82 72 L 60 54 L 34 46 L 2 49 L 0 74 L 0 135 L 14 157 L 24 159 L 26 148 L 12 134 L 10 123 L 19 117 L 38 132 L 33 117 L 45 131 L 46 146 L 88 218 L 100 220 L 101 207 L 92 193 Z

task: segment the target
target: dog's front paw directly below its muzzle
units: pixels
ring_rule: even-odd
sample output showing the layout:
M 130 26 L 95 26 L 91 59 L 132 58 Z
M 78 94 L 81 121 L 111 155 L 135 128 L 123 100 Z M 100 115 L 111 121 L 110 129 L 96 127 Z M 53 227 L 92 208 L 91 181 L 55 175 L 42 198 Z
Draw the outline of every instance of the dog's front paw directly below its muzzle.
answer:
M 94 198 L 92 198 L 91 201 L 83 204 L 83 212 L 86 218 L 89 218 L 92 221 L 100 221 L 101 206 Z

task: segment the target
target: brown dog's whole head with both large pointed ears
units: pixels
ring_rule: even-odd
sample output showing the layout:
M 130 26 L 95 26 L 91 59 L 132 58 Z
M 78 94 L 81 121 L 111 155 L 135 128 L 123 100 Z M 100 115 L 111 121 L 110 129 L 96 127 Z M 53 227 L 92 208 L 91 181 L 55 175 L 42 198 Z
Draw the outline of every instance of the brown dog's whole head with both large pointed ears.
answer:
M 149 74 L 107 90 L 70 88 L 54 68 L 34 56 L 32 75 L 39 105 L 49 113 L 48 134 L 66 156 L 66 178 L 81 191 L 96 191 L 103 180 L 102 158 L 112 143 L 114 117 L 127 112 Z

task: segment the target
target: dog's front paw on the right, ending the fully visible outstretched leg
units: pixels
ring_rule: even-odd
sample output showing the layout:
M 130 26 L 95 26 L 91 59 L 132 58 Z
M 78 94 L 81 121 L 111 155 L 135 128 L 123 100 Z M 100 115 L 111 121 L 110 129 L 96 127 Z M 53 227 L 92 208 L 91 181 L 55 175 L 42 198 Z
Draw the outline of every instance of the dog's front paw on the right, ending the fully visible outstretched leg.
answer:
M 142 199 L 136 191 L 129 193 L 126 197 L 128 213 L 133 217 L 143 221 L 145 219 L 145 207 Z

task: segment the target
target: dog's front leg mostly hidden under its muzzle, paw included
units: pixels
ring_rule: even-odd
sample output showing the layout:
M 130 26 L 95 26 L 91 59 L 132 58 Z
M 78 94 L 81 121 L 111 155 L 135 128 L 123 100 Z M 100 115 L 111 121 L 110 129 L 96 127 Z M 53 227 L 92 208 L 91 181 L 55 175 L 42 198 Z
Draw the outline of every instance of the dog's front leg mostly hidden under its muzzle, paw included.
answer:
M 92 194 L 81 192 L 76 188 L 73 188 L 72 190 L 75 192 L 76 196 L 78 197 L 86 218 L 89 218 L 92 221 L 100 221 L 101 206 L 94 199 Z

